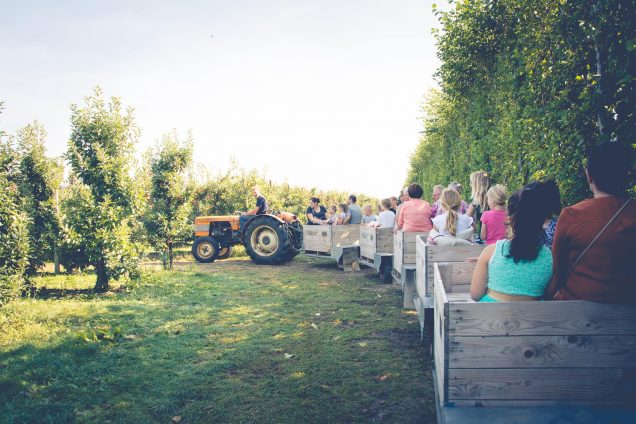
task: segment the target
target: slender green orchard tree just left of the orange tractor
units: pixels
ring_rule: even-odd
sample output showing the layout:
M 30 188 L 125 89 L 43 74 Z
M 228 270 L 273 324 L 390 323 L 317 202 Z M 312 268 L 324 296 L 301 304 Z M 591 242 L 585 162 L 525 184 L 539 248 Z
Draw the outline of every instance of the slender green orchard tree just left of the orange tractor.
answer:
M 188 134 L 181 142 L 176 131 L 163 136 L 148 152 L 150 190 L 148 208 L 144 217 L 148 239 L 161 246 L 163 265 L 172 268 L 173 246 L 192 232 L 188 219 L 193 182 L 186 172 L 192 164 L 192 137 Z

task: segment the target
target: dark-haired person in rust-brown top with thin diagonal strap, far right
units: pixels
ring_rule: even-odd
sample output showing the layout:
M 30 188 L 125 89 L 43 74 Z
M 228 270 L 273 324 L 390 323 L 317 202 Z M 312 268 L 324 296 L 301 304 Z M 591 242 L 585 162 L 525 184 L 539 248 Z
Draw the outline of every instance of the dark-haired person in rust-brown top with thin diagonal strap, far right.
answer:
M 627 144 L 590 151 L 585 173 L 594 197 L 559 215 L 547 299 L 636 304 L 636 202 L 626 193 L 633 163 Z

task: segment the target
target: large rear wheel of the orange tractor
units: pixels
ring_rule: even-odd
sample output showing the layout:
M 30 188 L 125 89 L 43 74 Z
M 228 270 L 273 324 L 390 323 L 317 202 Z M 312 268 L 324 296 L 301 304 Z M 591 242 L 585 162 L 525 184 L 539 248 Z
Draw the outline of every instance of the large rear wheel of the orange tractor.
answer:
M 243 244 L 254 262 L 279 265 L 294 256 L 286 225 L 269 215 L 249 220 L 243 231 Z

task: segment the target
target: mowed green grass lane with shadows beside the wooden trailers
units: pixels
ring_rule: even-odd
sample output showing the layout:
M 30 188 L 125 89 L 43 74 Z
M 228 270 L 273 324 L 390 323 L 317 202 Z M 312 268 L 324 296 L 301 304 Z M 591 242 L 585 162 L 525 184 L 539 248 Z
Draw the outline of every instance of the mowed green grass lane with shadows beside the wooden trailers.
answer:
M 299 257 L 93 280 L 42 277 L 0 310 L 0 421 L 434 422 L 417 318 L 369 271 Z

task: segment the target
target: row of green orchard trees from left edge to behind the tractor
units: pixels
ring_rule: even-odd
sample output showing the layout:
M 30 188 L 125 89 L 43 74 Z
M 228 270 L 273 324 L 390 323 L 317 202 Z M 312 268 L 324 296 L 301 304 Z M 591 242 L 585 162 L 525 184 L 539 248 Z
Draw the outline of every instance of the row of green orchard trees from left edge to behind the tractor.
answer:
M 195 216 L 252 209 L 255 185 L 270 208 L 303 221 L 310 197 L 337 203 L 349 195 L 272 183 L 235 163 L 211 175 L 193 165 L 192 136 L 176 131 L 137 161 L 138 136 L 132 110 L 118 98 L 105 100 L 99 88 L 83 106 L 71 106 L 62 158 L 46 156 L 38 122 L 12 135 L 0 131 L 0 306 L 28 290 L 46 262 L 94 271 L 96 291 L 112 280 L 138 279 L 149 251 L 162 252 L 171 268 L 175 244 L 192 241 Z M 377 203 L 356 194 L 360 203 Z

